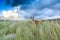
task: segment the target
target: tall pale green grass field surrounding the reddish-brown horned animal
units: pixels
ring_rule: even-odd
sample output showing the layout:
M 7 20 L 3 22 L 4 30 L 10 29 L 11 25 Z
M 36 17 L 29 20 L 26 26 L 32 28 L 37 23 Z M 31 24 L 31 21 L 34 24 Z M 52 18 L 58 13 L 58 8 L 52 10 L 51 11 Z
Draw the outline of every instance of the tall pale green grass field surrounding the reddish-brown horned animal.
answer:
M 60 40 L 59 21 L 0 21 L 0 40 Z

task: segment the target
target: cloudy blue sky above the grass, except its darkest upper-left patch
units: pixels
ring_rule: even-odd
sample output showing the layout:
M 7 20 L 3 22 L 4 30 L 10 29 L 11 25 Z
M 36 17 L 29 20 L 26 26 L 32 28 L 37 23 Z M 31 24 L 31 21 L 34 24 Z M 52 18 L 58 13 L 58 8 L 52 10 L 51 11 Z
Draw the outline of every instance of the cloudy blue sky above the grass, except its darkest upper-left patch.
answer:
M 60 0 L 20 0 L 20 2 L 26 3 L 12 7 L 5 5 L 6 0 L 0 0 L 0 16 L 6 18 L 19 16 L 20 19 L 29 19 L 31 16 L 35 19 L 60 18 Z

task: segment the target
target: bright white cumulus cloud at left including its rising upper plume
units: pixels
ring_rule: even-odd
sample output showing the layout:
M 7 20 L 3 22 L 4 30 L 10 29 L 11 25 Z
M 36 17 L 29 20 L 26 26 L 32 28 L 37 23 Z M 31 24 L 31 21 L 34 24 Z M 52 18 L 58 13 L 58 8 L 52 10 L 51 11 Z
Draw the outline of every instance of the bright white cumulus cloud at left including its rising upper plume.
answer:
M 24 17 L 19 15 L 20 14 L 20 10 L 18 7 L 15 7 L 13 10 L 8 10 L 8 11 L 5 11 L 3 10 L 2 11 L 2 16 L 4 17 L 4 19 L 10 19 L 10 20 L 23 20 Z

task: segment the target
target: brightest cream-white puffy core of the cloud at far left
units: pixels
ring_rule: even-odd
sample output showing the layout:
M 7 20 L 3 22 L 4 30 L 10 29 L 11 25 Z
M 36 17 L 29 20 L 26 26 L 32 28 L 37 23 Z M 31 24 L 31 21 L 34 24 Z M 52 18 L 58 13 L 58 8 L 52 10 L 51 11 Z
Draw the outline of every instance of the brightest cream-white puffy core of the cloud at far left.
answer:
M 3 17 L 5 17 L 5 18 L 10 18 L 10 17 L 17 18 L 18 17 L 18 13 L 16 13 L 16 11 L 12 11 L 12 10 L 2 11 L 2 14 L 3 14 Z

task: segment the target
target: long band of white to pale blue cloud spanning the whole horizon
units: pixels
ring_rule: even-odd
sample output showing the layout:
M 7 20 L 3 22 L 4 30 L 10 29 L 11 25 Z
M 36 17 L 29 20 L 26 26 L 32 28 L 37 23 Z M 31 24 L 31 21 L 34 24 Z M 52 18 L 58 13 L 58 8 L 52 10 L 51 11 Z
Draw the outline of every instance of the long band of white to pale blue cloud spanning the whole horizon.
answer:
M 18 8 L 18 13 L 17 13 L 17 8 Z M 20 10 L 19 7 L 15 7 L 14 10 L 8 10 L 8 11 L 3 10 L 2 14 L 5 18 L 13 17 L 17 20 L 23 20 L 26 17 L 31 17 L 33 14 L 34 14 L 34 16 L 38 15 L 38 16 L 35 16 L 35 19 L 60 18 L 60 10 L 55 10 L 55 9 L 50 9 L 50 8 L 44 8 L 42 10 L 29 9 L 29 8 L 27 10 Z

